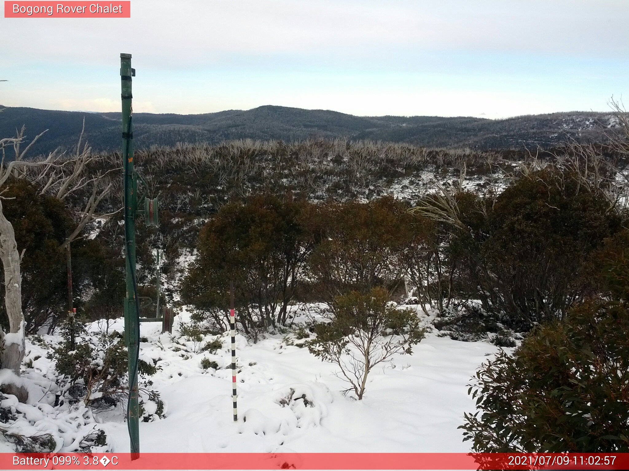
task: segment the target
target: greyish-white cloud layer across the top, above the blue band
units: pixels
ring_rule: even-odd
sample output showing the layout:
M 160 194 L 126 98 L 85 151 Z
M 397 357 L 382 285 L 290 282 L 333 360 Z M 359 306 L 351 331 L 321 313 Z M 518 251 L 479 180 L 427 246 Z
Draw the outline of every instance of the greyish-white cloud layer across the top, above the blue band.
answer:
M 131 19 L 2 19 L 3 55 L 150 65 L 229 57 L 368 57 L 374 48 L 629 56 L 623 0 L 134 0 Z M 400 49 L 402 49 L 400 51 Z

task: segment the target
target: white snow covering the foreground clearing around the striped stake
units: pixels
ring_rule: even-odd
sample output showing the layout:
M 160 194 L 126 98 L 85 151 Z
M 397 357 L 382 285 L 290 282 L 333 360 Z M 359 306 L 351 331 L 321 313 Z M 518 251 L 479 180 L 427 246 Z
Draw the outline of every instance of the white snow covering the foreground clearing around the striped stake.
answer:
M 430 317 L 420 306 L 422 322 Z M 312 308 L 313 315 L 306 315 Z M 292 306 L 294 323 L 320 317 L 321 305 Z M 184 309 L 175 317 L 173 335 L 161 333 L 160 323 L 142 323 L 141 358 L 158 371 L 150 377 L 151 389 L 164 401 L 165 417 L 140 422 L 145 452 L 469 452 L 457 427 L 464 412 L 474 411 L 467 385 L 479 365 L 499 351 L 484 342 L 458 342 L 436 333 L 413 348 L 412 355 L 394 355 L 372 371 L 362 401 L 343 396 L 347 384 L 336 375 L 334 364 L 323 362 L 300 347 L 304 340 L 288 335 L 267 335 L 257 344 L 237 334 L 238 422 L 233 422 L 230 341 L 220 335 L 223 347 L 202 352 L 199 342 L 179 337 L 177 327 L 189 318 Z M 98 323 L 91 325 L 96 332 Z M 123 320 L 110 330 L 122 330 Z M 42 336 L 58 342 L 55 336 Z M 217 336 L 207 335 L 201 344 Z M 106 412 L 94 412 L 82 401 L 54 406 L 52 360 L 46 347 L 26 340 L 26 369 L 21 379 L 30 384 L 29 404 L 8 396 L 2 406 L 20 413 L 13 424 L 20 433 L 50 433 L 57 450 L 76 450 L 84 436 L 102 429 L 106 447 L 94 451 L 128 452 L 124 421 L 125 404 Z M 218 369 L 202 369 L 208 358 Z M 4 382 L 7 373 L 0 376 Z M 19 378 L 12 378 L 15 381 Z M 53 378 L 52 378 L 53 379 Z M 30 389 L 30 391 L 31 391 Z M 35 398 L 36 394 L 37 397 Z M 32 400 L 31 400 L 32 399 Z M 155 403 L 145 405 L 155 414 Z M 0 426 L 2 424 L 0 423 Z M 0 451 L 11 446 L 0 440 Z

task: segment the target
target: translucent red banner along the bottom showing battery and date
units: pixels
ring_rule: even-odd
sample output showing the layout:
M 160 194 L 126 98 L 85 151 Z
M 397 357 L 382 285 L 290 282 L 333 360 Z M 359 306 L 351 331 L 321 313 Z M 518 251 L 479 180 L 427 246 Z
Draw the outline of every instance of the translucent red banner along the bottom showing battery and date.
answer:
M 0 469 L 629 469 L 629 453 L 0 453 Z

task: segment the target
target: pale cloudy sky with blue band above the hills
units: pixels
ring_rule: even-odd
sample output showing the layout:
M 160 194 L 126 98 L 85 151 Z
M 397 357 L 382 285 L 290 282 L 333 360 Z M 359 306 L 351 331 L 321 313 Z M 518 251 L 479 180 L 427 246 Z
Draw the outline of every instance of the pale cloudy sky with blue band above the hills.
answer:
M 120 111 L 131 53 L 136 112 L 609 111 L 628 24 L 626 0 L 131 0 L 126 19 L 0 17 L 0 104 Z

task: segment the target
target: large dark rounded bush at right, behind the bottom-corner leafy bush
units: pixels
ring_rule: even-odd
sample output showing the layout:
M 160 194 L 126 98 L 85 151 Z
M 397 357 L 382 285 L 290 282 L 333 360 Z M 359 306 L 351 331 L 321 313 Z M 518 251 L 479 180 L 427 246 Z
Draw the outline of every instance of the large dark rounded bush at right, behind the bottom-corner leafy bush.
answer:
M 491 235 L 481 247 L 493 276 L 479 276 L 495 308 L 532 323 L 564 317 L 582 297 L 587 258 L 620 229 L 620 218 L 602 195 L 578 185 L 550 169 L 498 197 L 487 221 Z

